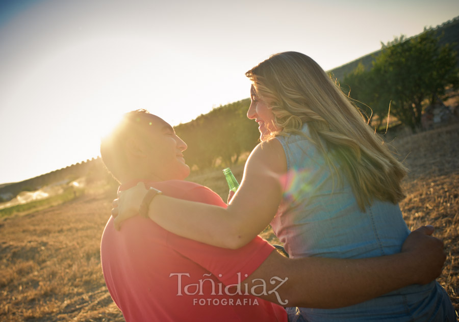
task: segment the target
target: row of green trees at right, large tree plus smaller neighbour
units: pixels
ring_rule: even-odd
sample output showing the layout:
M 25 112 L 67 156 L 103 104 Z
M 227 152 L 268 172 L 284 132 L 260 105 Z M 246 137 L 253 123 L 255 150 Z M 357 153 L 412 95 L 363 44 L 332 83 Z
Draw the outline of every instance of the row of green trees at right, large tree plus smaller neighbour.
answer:
M 432 31 L 425 31 L 411 39 L 401 36 L 382 44 L 372 68 L 359 65 L 344 77 L 341 87 L 366 114 L 377 116 L 376 127 L 390 107 L 391 115 L 416 131 L 423 107 L 445 99 L 446 89 L 457 89 L 458 73 L 452 45 L 440 45 Z

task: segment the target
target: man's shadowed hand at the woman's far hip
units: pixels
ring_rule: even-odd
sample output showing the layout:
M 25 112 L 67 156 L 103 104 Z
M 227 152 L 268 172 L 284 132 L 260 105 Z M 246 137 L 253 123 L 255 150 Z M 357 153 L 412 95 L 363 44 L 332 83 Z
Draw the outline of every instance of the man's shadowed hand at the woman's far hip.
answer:
M 412 255 L 413 275 L 418 284 L 427 284 L 440 276 L 446 260 L 443 241 L 431 236 L 433 226 L 422 226 L 414 230 L 402 245 L 402 253 Z

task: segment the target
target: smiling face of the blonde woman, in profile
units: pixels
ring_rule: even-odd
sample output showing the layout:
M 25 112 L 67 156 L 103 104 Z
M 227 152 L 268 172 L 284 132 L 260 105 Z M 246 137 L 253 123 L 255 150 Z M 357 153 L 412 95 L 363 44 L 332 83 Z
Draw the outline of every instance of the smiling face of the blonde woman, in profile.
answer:
M 247 111 L 247 117 L 258 123 L 261 141 L 271 132 L 280 130 L 274 123 L 274 114 L 266 103 L 257 96 L 253 85 L 250 87 L 250 107 Z

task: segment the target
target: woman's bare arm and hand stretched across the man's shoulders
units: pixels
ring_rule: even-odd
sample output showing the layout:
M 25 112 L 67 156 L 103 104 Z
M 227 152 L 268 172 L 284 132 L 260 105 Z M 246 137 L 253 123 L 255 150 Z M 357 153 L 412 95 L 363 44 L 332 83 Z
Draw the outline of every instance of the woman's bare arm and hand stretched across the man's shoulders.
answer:
M 247 159 L 238 192 L 228 207 L 156 196 L 148 216 L 170 232 L 213 246 L 240 248 L 274 218 L 282 199 L 281 177 L 287 171 L 284 149 L 278 140 L 259 144 Z M 115 227 L 134 216 L 146 190 L 139 187 L 119 196 Z

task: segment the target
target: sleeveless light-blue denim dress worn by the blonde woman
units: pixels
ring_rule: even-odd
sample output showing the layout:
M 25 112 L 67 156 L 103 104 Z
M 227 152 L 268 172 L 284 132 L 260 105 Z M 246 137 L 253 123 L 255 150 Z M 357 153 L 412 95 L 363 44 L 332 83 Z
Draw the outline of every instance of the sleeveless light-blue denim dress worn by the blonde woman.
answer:
M 302 131 L 309 136 L 306 124 Z M 284 148 L 288 172 L 283 178 L 283 199 L 271 225 L 290 258 L 366 258 L 400 252 L 410 230 L 398 204 L 373 200 L 362 211 L 346 178 L 337 183 L 307 137 L 276 139 Z M 447 293 L 436 281 L 345 308 L 287 311 L 291 321 L 456 320 Z

